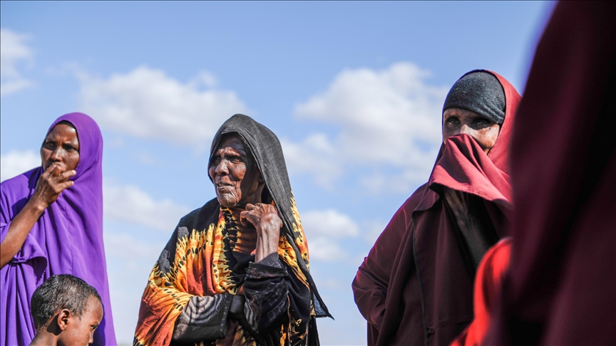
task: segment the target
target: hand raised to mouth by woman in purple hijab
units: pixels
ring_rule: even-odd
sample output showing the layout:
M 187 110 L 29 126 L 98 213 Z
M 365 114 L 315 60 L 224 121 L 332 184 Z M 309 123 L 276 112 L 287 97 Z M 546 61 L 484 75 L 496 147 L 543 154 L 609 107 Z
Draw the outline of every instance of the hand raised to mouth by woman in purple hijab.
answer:
M 58 164 L 51 164 L 41 174 L 39 181 L 36 182 L 31 201 L 37 206 L 46 209 L 58 199 L 61 192 L 75 184 L 72 180 L 68 180 L 75 174 L 75 170 L 65 171 Z

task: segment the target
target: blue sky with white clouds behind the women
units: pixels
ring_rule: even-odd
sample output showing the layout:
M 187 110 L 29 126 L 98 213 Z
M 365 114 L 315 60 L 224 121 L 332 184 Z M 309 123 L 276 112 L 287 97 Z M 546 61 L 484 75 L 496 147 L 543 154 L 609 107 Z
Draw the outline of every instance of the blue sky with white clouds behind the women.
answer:
M 215 196 L 207 153 L 244 112 L 280 138 L 336 320 L 323 345 L 365 345 L 351 281 L 440 143 L 448 88 L 475 68 L 523 90 L 553 4 L 1 1 L 1 179 L 40 164 L 67 112 L 101 126 L 105 241 L 119 342 L 173 227 Z

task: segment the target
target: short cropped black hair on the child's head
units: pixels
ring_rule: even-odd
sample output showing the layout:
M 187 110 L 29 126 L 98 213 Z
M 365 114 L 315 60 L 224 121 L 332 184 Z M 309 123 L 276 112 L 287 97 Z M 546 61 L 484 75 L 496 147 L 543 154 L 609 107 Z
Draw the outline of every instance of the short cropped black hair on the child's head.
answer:
M 81 318 L 91 296 L 101 301 L 96 288 L 76 276 L 61 274 L 48 278 L 34 291 L 30 309 L 36 330 L 46 327 L 58 311 L 67 309 Z

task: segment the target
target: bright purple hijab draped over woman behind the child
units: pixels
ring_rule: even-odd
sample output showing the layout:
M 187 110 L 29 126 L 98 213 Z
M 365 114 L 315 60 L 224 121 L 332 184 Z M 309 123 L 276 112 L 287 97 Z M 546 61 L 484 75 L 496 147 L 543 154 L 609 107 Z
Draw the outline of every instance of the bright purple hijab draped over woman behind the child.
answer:
M 82 113 L 58 117 L 47 133 L 62 120 L 73 124 L 79 139 L 77 174 L 71 178 L 75 184 L 43 211 L 24 246 L 0 270 L 0 345 L 29 345 L 36 332 L 30 299 L 56 274 L 78 276 L 98 290 L 105 315 L 93 345 L 117 345 L 103 246 L 103 137 L 96 122 Z M 42 173 L 39 167 L 0 184 L 0 242 Z

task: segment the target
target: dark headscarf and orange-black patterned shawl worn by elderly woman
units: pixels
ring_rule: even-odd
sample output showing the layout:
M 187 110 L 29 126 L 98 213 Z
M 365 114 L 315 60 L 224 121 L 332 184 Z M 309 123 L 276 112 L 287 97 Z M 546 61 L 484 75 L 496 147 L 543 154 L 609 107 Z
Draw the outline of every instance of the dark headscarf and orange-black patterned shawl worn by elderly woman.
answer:
M 278 255 L 289 275 L 287 317 L 268 335 L 251 335 L 241 325 L 216 345 L 319 345 L 315 317 L 330 316 L 309 273 L 309 255 L 292 195 L 279 141 L 267 127 L 246 115 L 234 115 L 220 127 L 212 153 L 222 135 L 237 132 L 250 148 L 265 179 L 272 204 L 282 218 Z M 232 253 L 238 238 L 232 214 L 212 199 L 180 220 L 160 254 L 145 288 L 134 345 L 169 345 L 176 320 L 191 297 L 235 295 L 243 283 Z M 254 261 L 254 259 L 253 259 Z M 237 327 L 236 327 L 237 326 Z M 255 340 L 255 338 L 257 340 Z M 275 345 L 272 344 L 272 345 Z M 210 344 L 204 344 L 210 345 Z M 213 345 L 213 344 L 212 344 Z

